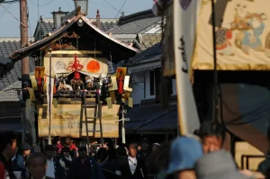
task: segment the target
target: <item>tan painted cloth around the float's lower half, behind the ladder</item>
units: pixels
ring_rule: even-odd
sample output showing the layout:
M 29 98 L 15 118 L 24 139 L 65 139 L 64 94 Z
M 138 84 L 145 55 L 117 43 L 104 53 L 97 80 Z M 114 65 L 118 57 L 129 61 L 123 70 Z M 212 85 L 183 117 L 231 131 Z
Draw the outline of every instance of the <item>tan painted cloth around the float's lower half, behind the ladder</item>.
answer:
M 63 99 L 64 100 L 64 99 Z M 69 100 L 70 99 L 66 99 Z M 72 101 L 71 101 L 72 102 Z M 39 137 L 46 138 L 49 134 L 49 113 L 48 105 L 38 105 L 39 112 Z M 119 127 L 119 105 L 113 104 L 112 109 L 108 106 L 102 106 L 102 124 L 103 124 L 103 138 L 118 138 Z M 51 108 L 51 123 L 50 135 L 59 136 L 61 138 L 72 137 L 81 138 L 86 136 L 85 130 L 85 115 L 82 104 L 58 104 Z M 94 117 L 94 108 L 87 108 L 87 117 Z M 93 121 L 93 120 L 88 120 Z M 96 123 L 88 123 L 88 135 L 92 138 L 100 138 L 100 132 L 93 130 L 100 130 L 99 120 Z

